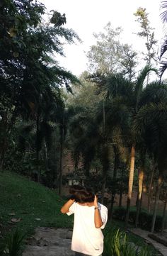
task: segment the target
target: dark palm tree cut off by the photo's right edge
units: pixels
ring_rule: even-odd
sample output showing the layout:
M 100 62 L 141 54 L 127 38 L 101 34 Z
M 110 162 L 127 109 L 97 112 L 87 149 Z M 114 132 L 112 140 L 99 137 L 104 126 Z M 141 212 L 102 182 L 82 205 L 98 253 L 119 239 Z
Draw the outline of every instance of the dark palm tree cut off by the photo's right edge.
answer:
M 151 92 L 151 93 L 150 93 Z M 154 157 L 154 163 L 158 167 L 158 179 L 156 187 L 156 199 L 152 219 L 151 232 L 154 232 L 156 221 L 156 210 L 159 201 L 162 177 L 166 172 L 166 113 L 167 113 L 167 87 L 159 82 L 151 84 L 144 91 L 147 104 L 143 105 L 137 112 L 134 121 L 135 130 L 142 137 L 146 149 Z M 142 126 L 141 126 L 142 124 Z

